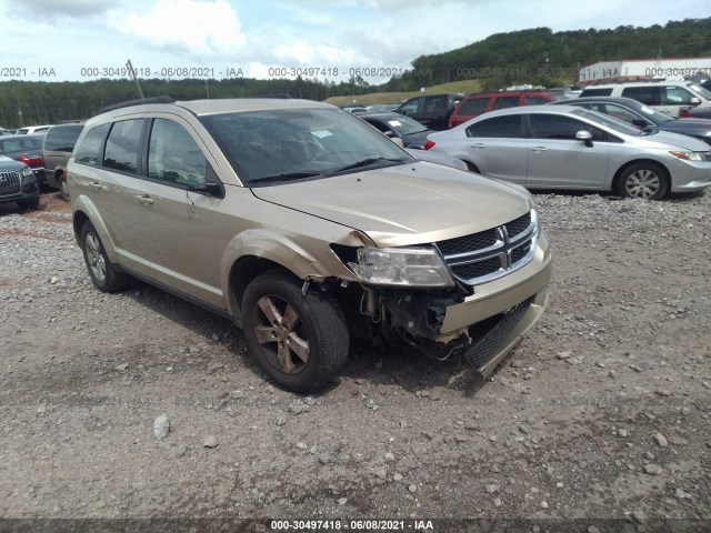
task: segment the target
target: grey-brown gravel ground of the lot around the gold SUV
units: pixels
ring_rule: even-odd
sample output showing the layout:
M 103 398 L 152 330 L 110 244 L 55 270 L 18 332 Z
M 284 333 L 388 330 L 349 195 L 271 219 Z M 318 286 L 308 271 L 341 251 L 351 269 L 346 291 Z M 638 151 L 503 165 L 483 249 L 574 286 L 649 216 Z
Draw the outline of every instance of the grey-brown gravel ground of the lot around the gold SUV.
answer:
M 550 305 L 490 381 L 357 345 L 310 396 L 266 382 L 223 319 L 98 292 L 56 194 L 0 205 L 0 516 L 711 531 L 711 192 L 537 202 Z

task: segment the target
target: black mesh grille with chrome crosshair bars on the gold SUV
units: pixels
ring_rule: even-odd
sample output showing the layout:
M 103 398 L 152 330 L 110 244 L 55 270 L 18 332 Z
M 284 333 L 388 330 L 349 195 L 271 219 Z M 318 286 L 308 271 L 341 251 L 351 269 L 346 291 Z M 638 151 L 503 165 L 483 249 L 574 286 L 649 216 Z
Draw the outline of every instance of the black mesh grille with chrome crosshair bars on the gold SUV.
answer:
M 452 275 L 474 285 L 528 264 L 535 252 L 538 217 L 531 210 L 498 228 L 434 243 Z

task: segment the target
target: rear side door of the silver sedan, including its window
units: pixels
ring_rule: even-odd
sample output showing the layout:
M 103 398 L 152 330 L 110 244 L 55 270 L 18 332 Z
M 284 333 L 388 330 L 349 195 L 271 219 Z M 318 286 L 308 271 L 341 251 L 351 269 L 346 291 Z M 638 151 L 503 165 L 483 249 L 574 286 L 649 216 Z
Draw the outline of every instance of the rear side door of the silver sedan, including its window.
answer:
M 524 184 L 527 149 L 520 114 L 483 119 L 467 128 L 467 152 L 482 174 Z

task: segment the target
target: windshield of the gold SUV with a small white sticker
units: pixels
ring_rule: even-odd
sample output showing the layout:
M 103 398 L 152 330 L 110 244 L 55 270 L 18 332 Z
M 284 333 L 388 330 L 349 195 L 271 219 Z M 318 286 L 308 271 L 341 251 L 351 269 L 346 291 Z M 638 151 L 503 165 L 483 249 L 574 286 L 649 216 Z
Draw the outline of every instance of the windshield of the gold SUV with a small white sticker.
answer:
M 247 185 L 413 161 L 369 124 L 337 109 L 237 112 L 201 121 Z

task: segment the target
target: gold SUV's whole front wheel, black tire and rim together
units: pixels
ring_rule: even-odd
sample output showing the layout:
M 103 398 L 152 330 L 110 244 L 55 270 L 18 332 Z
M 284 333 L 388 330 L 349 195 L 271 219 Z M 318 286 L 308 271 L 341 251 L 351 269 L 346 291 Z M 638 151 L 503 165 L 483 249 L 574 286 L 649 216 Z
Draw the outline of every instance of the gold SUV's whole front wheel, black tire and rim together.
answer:
M 339 303 L 321 291 L 304 296 L 287 272 L 254 278 L 244 291 L 242 316 L 258 364 L 287 390 L 319 389 L 346 363 L 349 335 Z

